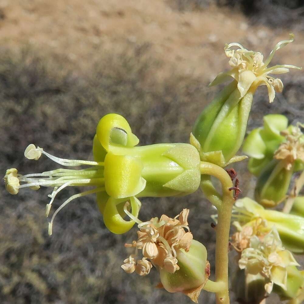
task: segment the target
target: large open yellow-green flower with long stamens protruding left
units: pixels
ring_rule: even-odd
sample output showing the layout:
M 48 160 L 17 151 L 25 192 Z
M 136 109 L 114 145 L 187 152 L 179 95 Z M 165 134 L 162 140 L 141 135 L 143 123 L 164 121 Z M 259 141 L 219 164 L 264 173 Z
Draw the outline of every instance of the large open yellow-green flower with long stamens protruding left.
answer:
M 113 233 L 124 233 L 135 223 L 123 219 L 126 201 L 131 203 L 133 216 L 138 216 L 141 203 L 137 197 L 186 195 L 196 191 L 200 184 L 200 157 L 195 147 L 185 143 L 135 147 L 138 142 L 123 116 L 108 114 L 100 119 L 93 140 L 95 161 L 58 158 L 33 144 L 24 153 L 28 159 L 38 160 L 44 154 L 64 166 L 88 165 L 89 168 L 60 168 L 26 175 L 12 168 L 6 171 L 5 187 L 11 194 L 25 187 L 33 190 L 40 186 L 54 187 L 46 207 L 48 216 L 55 196 L 67 186 L 95 186 L 97 188 L 71 196 L 54 212 L 49 234 L 60 209 L 71 200 L 92 193 L 97 194 L 107 228 Z

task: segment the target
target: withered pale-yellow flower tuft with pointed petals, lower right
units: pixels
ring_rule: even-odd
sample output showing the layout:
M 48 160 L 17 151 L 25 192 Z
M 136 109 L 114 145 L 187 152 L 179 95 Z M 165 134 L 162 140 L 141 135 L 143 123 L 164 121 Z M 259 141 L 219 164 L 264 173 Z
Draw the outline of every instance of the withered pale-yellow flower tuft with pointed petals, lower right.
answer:
M 250 247 L 243 250 L 239 267 L 245 273 L 261 274 L 266 279 L 265 290 L 271 293 L 273 284 L 287 290 L 287 267 L 300 266 L 292 253 L 282 246 L 275 226 L 260 240 L 257 236 L 250 239 Z

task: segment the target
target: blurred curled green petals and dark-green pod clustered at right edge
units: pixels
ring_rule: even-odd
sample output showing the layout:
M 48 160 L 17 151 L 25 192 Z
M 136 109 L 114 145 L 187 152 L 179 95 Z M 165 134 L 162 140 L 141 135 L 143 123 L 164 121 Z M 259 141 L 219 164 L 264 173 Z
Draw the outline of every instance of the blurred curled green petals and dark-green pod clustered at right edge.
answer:
M 255 199 L 273 207 L 286 199 L 292 174 L 304 169 L 304 134 L 302 124 L 288 126 L 284 115 L 269 114 L 263 120 L 264 126 L 247 136 L 243 151 L 250 156 L 249 171 L 258 177 Z

